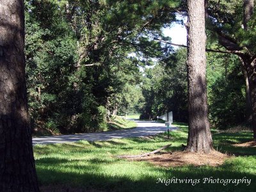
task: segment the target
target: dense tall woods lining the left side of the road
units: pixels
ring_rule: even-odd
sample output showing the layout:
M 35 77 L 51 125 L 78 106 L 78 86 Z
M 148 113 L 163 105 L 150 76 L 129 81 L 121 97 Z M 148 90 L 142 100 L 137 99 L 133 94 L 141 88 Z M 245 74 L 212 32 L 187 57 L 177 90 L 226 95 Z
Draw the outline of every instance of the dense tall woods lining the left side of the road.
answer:
M 178 5 L 178 4 L 177 4 Z M 93 132 L 141 99 L 140 67 L 166 58 L 169 1 L 26 1 L 26 72 L 33 127 Z M 136 56 L 131 56 L 131 53 Z

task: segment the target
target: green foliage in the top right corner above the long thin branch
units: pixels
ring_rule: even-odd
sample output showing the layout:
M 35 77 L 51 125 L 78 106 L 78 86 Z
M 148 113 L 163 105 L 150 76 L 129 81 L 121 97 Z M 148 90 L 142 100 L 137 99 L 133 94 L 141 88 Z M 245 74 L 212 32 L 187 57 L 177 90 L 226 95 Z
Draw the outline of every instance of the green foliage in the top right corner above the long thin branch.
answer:
M 248 30 L 244 30 L 243 14 L 244 14 L 244 1 L 209 1 L 209 14 L 211 15 L 207 25 L 213 33 L 223 33 L 229 36 L 228 38 L 235 42 L 239 47 L 246 47 L 244 51 L 256 52 L 253 42 L 256 37 L 256 22 L 255 10 L 252 19 L 248 22 Z M 255 6 L 254 6 L 255 9 Z

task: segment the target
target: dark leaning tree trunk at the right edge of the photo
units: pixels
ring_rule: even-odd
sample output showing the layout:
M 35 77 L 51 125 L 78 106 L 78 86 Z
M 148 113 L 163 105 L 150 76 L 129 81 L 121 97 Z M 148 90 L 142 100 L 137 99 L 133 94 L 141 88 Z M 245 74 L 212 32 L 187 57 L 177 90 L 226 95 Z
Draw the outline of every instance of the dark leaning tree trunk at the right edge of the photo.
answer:
M 253 140 L 256 141 L 256 59 L 248 55 L 241 56 L 241 59 L 248 76 L 250 102 L 252 104 Z

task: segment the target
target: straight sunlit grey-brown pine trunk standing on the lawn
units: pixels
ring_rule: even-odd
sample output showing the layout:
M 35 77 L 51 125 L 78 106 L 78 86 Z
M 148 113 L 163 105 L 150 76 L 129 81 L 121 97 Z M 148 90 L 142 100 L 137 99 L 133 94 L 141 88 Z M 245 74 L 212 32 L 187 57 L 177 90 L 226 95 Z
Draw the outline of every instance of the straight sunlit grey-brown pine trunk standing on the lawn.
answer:
M 212 149 L 212 137 L 208 120 L 205 79 L 204 0 L 189 0 L 188 15 L 189 134 L 187 150 L 208 153 Z

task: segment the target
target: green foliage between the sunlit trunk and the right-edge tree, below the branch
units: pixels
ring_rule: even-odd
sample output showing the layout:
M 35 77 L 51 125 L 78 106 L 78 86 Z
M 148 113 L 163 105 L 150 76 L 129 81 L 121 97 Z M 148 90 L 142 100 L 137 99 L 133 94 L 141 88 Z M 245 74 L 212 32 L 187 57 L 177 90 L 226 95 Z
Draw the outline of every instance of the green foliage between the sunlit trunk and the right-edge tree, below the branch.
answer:
M 227 129 L 245 121 L 245 81 L 237 56 L 207 54 L 207 95 L 213 126 Z

